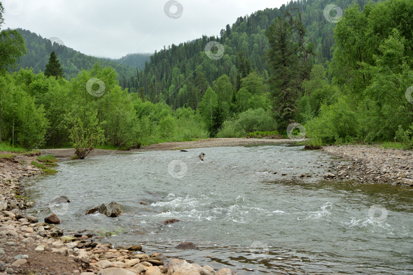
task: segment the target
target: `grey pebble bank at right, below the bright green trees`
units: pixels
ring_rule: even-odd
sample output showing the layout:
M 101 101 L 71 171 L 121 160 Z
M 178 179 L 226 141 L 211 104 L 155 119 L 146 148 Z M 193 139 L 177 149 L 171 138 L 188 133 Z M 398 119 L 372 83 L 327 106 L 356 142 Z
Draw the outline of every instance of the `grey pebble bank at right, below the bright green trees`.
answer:
M 334 167 L 326 178 L 351 175 L 361 183 L 413 186 L 412 151 L 384 149 L 380 145 L 326 146 L 322 150 L 349 161 Z

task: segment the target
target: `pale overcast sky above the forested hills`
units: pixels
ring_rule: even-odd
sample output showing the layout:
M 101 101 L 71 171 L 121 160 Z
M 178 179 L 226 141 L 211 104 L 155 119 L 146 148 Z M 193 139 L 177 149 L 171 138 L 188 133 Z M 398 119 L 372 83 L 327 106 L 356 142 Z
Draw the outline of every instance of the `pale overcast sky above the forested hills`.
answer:
M 172 2 L 170 2 L 172 1 Z M 0 0 L 5 28 L 57 37 L 82 53 L 120 58 L 219 35 L 226 24 L 287 0 Z M 167 7 L 165 8 L 165 6 Z M 168 7 L 170 7 L 168 9 Z M 172 17 L 172 18 L 171 18 Z

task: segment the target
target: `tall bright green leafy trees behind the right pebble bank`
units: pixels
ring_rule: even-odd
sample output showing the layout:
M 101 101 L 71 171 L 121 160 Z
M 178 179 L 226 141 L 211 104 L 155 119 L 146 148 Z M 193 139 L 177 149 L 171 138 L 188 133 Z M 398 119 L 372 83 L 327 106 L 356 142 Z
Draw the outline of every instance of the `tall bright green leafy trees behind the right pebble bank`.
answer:
M 323 143 L 396 140 L 413 148 L 412 17 L 409 0 L 345 10 L 331 62 L 326 70 L 315 66 L 302 84 L 300 121 L 309 136 Z

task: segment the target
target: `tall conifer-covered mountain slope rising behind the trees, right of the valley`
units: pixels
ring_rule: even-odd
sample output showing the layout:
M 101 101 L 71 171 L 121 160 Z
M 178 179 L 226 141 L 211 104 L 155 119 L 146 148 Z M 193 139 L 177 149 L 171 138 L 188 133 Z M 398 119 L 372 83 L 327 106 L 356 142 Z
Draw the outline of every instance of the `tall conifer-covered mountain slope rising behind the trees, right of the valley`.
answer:
M 368 0 L 354 2 L 363 8 Z M 349 3 L 350 1 L 346 0 L 298 0 L 282 5 L 279 9 L 267 8 L 241 16 L 232 25 L 227 24 L 220 31 L 220 37 L 203 36 L 156 51 L 144 70 L 120 84 L 131 92 L 143 87 L 145 95 L 152 102 L 164 100 L 173 108 L 186 104 L 195 109 L 205 94 L 204 83 L 214 87 L 215 81 L 224 74 L 237 92 L 240 88 L 240 79 L 237 80 L 237 77 L 242 79 L 251 70 L 265 81 L 269 76 L 266 30 L 275 18 L 283 17 L 286 11 L 295 8 L 301 13 L 302 23 L 306 28 L 306 43 L 314 44 L 316 54 L 312 62 L 324 64 L 332 57 L 335 25 L 325 19 L 324 8 L 328 4 L 335 4 L 345 10 Z M 204 52 L 205 45 L 210 41 L 223 45 L 224 53 L 219 60 L 208 58 Z

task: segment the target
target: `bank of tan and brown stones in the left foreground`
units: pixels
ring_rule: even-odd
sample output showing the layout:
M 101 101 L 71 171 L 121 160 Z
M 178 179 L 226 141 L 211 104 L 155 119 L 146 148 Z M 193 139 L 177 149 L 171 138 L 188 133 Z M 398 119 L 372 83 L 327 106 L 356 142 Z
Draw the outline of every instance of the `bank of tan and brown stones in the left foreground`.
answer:
M 93 232 L 63 232 L 55 224 L 24 215 L 32 206 L 23 196 L 20 180 L 42 173 L 33 167 L 38 154 L 0 158 L 0 274 L 83 275 L 232 275 L 182 259 L 168 260 L 161 253 L 145 254 L 142 245 L 126 248 L 101 243 Z

